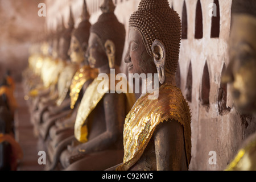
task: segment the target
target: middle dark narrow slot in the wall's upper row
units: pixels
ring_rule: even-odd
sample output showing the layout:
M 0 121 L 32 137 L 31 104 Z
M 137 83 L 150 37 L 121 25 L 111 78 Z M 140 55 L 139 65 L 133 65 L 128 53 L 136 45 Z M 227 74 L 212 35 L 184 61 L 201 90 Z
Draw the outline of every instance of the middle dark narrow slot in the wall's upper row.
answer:
M 195 39 L 203 38 L 203 14 L 200 0 L 196 4 Z

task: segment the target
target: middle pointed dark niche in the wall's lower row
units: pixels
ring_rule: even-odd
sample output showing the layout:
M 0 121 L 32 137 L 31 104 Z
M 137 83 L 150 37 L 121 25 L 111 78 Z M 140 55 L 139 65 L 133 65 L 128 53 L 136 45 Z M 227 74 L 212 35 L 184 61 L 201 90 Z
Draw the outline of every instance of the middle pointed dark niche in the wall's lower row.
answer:
M 207 61 L 205 61 L 202 83 L 201 83 L 201 102 L 203 105 L 209 105 L 210 97 L 210 76 Z

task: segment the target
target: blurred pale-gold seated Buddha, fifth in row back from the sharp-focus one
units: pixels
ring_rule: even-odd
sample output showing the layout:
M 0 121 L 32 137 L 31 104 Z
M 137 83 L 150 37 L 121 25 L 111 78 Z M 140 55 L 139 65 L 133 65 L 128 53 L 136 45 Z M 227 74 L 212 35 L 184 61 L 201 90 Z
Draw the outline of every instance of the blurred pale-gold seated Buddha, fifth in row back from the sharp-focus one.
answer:
M 38 85 L 34 86 L 34 89 L 30 91 L 28 96 L 31 97 L 30 102 L 32 102 L 31 107 L 31 122 L 35 126 L 35 135 L 38 135 L 38 123 L 42 122 L 42 114 L 44 111 L 47 110 L 47 107 L 49 105 L 55 104 L 56 100 L 56 81 L 57 77 L 63 69 L 63 61 L 59 59 L 59 55 L 57 54 L 57 51 L 59 49 L 59 42 L 60 42 L 60 35 L 63 35 L 64 29 L 64 23 L 59 24 L 57 26 L 57 31 L 55 34 L 51 37 L 53 40 L 53 46 L 51 55 L 48 47 L 48 43 L 46 44 L 45 41 L 43 41 L 43 46 L 38 43 L 38 48 L 40 48 L 39 53 L 36 53 L 35 55 L 35 61 L 38 62 L 34 67 L 36 67 L 37 72 L 36 75 L 40 77 L 41 82 L 38 82 Z M 42 48 L 44 47 L 44 48 Z M 40 53 L 41 52 L 41 53 Z M 33 58 L 34 56 L 32 56 Z M 53 74 L 54 73 L 54 74 Z M 31 79 L 31 78 L 26 78 Z M 42 85 L 42 86 L 41 86 Z M 43 92 L 42 92 L 43 90 Z

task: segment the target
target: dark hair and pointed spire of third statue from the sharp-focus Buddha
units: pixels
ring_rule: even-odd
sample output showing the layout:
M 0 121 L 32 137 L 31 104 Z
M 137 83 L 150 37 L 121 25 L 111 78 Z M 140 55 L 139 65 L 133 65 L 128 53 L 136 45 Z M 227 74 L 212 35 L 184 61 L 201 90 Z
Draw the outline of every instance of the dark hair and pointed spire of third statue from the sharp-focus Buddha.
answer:
M 72 35 L 76 37 L 79 41 L 80 46 L 83 46 L 84 43 L 88 43 L 90 35 L 90 15 L 87 10 L 86 2 L 84 0 L 84 5 L 82 6 L 81 22 L 79 26 L 75 28 L 72 32 Z

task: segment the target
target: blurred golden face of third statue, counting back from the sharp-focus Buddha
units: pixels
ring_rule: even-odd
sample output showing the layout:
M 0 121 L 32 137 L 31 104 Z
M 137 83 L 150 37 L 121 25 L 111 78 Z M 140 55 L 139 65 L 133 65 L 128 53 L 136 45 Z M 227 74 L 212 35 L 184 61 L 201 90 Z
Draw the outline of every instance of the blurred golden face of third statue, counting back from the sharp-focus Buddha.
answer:
M 80 43 L 75 36 L 72 36 L 71 38 L 71 45 L 68 50 L 68 55 L 73 63 L 82 63 L 82 61 L 84 61 L 84 53 L 82 52 Z

